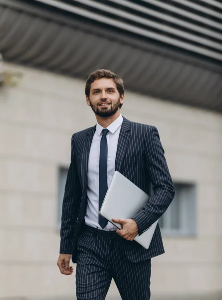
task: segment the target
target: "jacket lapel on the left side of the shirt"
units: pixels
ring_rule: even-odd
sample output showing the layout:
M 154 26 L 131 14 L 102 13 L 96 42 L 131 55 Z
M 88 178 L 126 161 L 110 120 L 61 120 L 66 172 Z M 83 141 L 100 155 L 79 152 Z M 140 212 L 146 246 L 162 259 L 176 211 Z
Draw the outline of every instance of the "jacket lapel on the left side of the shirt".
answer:
M 88 172 L 88 162 L 89 162 L 89 151 L 92 143 L 92 138 L 96 130 L 96 125 L 90 127 L 85 135 L 85 142 L 83 145 L 82 161 L 81 161 L 81 175 L 82 175 L 82 189 L 86 190 L 87 186 L 87 172 Z

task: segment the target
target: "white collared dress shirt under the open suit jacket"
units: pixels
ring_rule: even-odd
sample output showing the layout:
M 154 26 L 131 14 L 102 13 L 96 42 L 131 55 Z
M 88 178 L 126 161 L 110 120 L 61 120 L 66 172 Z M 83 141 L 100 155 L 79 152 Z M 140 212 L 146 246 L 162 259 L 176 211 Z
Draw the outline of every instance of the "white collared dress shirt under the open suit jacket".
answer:
M 108 188 L 111 184 L 113 174 L 115 171 L 115 160 L 117 144 L 120 134 L 123 117 L 120 116 L 112 122 L 107 129 L 109 132 L 106 135 L 108 145 L 108 159 L 107 159 L 107 185 Z M 102 137 L 102 130 L 104 128 L 97 122 L 96 132 L 92 139 L 92 144 L 89 152 L 88 163 L 88 186 L 87 186 L 87 207 L 85 214 L 85 223 L 92 227 L 98 227 L 99 225 L 99 152 L 100 152 L 100 140 Z M 116 226 L 108 222 L 103 230 L 116 230 Z

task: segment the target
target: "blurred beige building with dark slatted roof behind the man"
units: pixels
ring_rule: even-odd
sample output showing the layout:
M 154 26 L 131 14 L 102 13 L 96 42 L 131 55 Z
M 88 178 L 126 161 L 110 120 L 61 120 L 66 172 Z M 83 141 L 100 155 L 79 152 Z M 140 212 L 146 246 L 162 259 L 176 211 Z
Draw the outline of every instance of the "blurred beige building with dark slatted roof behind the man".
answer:
M 123 77 L 125 117 L 159 129 L 176 187 L 152 299 L 222 299 L 222 2 L 0 0 L 0 52 L 0 299 L 74 298 L 60 214 L 97 68 Z

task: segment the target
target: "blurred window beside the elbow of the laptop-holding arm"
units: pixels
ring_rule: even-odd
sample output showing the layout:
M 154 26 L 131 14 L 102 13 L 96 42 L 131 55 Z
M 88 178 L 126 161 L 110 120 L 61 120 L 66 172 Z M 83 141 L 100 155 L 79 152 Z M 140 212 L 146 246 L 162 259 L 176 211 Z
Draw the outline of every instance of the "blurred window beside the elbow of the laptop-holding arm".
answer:
M 165 235 L 195 235 L 197 227 L 196 191 L 194 184 L 175 183 L 175 197 L 160 217 Z

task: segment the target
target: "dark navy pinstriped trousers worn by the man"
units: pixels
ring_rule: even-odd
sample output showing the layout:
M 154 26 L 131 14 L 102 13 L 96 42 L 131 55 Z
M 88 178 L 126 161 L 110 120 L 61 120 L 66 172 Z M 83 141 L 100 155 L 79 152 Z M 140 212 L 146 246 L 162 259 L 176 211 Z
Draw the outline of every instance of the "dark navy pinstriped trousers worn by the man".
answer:
M 151 259 L 131 262 L 116 231 L 86 226 L 78 240 L 77 300 L 104 300 L 112 278 L 123 300 L 150 299 Z

